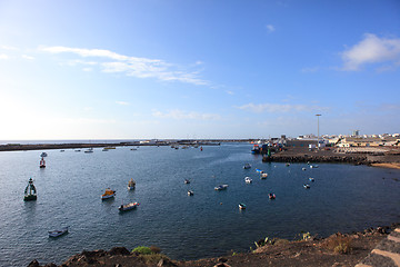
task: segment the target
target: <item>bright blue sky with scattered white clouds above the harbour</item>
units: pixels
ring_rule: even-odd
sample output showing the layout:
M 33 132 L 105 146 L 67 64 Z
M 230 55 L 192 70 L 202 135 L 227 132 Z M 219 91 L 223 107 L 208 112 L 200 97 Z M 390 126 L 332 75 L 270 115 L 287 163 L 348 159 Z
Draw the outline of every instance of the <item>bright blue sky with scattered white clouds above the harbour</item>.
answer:
M 0 140 L 400 132 L 398 0 L 0 0 Z

